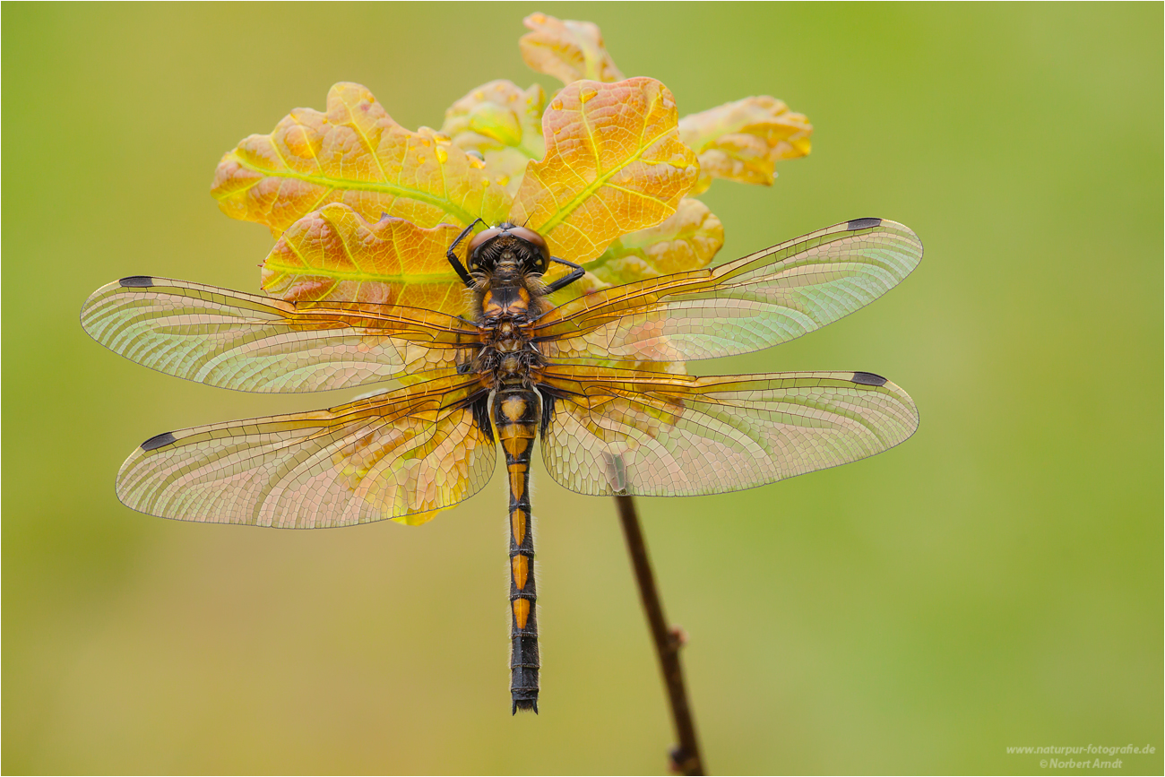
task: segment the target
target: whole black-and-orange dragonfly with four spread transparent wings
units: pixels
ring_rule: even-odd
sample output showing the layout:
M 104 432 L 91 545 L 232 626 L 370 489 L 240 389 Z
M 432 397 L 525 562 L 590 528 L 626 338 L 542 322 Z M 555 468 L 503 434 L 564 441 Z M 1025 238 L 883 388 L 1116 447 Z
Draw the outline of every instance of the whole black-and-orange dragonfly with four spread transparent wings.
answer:
M 917 235 L 863 218 L 714 268 L 617 285 L 559 306 L 584 270 L 503 222 L 463 262 L 464 316 L 285 302 L 130 276 L 98 289 L 85 331 L 135 362 L 243 391 L 383 383 L 315 412 L 164 432 L 122 464 L 116 495 L 165 518 L 341 527 L 451 507 L 509 481 L 511 714 L 538 711 L 530 462 L 586 495 L 721 494 L 855 461 L 910 437 L 910 396 L 868 372 L 693 376 L 683 362 L 792 340 L 873 302 L 923 256 Z M 544 282 L 551 264 L 569 273 Z M 419 522 L 419 521 L 417 521 Z

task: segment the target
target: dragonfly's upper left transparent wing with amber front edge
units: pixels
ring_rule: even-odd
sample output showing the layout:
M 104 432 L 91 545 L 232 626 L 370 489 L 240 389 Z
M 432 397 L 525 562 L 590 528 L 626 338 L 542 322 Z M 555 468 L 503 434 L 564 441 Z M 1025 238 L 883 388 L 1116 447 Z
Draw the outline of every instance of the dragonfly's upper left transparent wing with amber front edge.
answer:
M 323 391 L 428 373 L 453 366 L 478 339 L 472 324 L 416 308 L 295 304 L 150 276 L 101 287 L 80 323 L 127 359 L 243 391 Z

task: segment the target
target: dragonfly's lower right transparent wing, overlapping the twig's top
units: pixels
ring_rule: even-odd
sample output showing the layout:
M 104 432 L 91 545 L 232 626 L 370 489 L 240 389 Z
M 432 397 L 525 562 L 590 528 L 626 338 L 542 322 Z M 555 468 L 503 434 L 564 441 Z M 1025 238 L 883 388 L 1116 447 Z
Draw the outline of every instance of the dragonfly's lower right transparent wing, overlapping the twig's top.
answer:
M 762 486 L 894 447 L 913 401 L 871 373 L 694 377 L 545 368 L 551 476 L 580 494 L 691 496 Z

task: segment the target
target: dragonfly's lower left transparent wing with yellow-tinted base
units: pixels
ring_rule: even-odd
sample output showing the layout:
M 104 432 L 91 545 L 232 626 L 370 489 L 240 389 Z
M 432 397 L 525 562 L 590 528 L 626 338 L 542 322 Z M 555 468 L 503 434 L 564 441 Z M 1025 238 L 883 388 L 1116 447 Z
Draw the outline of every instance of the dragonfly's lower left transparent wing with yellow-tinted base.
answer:
M 465 407 L 475 393 L 476 381 L 445 377 L 331 410 L 158 435 L 121 465 L 118 497 L 164 518 L 296 529 L 449 507 L 494 469 L 492 432 Z

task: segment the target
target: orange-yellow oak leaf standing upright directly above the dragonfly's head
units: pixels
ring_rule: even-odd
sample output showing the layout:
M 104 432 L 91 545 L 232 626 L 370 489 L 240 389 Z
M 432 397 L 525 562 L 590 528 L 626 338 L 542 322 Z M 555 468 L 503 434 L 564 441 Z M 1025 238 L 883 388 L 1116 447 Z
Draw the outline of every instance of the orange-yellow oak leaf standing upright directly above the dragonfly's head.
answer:
M 546 155 L 527 167 L 509 218 L 574 262 L 669 218 L 699 175 L 676 101 L 654 78 L 574 82 L 550 101 L 542 127 Z

